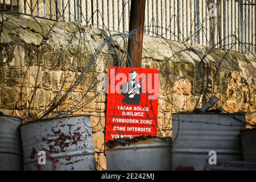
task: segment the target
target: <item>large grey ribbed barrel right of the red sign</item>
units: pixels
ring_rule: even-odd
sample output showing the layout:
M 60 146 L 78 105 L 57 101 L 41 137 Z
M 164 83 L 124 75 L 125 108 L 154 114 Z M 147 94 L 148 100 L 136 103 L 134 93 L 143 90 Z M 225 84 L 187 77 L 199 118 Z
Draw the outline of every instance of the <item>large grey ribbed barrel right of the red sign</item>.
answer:
M 240 131 L 245 123 L 245 114 L 172 115 L 173 169 L 204 170 L 214 152 L 217 162 L 242 160 Z

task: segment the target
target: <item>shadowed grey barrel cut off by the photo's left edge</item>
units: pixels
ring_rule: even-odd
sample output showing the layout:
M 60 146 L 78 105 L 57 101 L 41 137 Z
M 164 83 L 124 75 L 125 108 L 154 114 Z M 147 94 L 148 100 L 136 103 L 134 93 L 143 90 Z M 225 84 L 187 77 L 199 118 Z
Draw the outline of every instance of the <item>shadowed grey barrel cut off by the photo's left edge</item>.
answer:
M 0 116 L 0 171 L 23 170 L 20 123 L 17 117 Z

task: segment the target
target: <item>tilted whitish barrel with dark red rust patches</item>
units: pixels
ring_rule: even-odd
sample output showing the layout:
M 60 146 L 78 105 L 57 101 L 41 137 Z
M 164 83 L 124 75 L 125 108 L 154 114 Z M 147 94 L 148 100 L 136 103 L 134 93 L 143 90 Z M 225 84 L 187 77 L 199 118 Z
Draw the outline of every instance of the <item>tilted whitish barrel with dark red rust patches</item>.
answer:
M 26 123 L 20 130 L 26 170 L 96 170 L 88 116 Z

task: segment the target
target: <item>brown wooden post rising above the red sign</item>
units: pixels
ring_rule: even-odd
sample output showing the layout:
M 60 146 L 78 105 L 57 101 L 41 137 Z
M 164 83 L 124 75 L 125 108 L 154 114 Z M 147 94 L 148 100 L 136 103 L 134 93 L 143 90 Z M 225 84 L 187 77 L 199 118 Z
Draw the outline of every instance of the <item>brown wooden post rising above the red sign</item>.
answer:
M 127 67 L 141 68 L 146 0 L 131 0 Z

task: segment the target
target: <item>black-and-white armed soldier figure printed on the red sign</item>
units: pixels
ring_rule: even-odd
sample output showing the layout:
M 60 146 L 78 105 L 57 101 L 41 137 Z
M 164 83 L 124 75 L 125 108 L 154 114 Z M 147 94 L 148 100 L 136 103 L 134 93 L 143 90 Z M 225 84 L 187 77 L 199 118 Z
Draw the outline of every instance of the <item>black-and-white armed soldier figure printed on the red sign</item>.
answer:
M 141 101 L 141 83 L 135 81 L 135 78 L 138 76 L 138 73 L 134 70 L 129 73 L 130 80 L 124 83 L 121 87 L 122 94 L 125 96 L 122 102 L 123 104 L 130 105 L 139 105 L 139 101 Z

